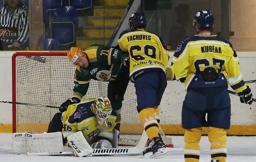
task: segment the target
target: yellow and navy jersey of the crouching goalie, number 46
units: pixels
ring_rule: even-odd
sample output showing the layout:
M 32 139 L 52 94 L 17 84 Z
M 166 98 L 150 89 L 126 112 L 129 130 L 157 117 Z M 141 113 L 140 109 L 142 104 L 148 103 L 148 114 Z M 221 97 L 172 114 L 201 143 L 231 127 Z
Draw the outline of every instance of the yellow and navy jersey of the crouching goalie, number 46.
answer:
M 64 139 L 70 134 L 82 131 L 84 138 L 90 145 L 101 139 L 112 141 L 113 129 L 116 126 L 116 111 L 112 110 L 110 116 L 106 119 L 107 125 L 105 123 L 99 125 L 94 119 L 95 115 L 90 108 L 95 100 L 88 99 L 69 105 L 67 111 L 62 113 L 62 134 Z

